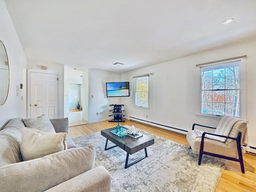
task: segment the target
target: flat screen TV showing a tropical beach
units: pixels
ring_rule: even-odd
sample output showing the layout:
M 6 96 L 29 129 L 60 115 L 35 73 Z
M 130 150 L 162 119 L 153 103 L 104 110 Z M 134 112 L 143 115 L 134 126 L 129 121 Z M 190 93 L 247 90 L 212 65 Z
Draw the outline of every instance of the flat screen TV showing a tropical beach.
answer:
M 129 82 L 107 82 L 107 97 L 129 97 Z

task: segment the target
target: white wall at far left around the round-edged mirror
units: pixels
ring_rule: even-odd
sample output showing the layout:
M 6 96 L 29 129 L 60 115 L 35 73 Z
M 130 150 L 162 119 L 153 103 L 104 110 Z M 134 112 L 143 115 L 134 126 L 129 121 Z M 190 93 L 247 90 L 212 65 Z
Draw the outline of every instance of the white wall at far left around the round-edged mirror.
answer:
M 25 84 L 22 79 L 22 71 L 26 69 L 26 56 L 16 34 L 12 20 L 5 6 L 4 0 L 0 0 L 0 40 L 6 48 L 9 68 L 10 68 L 10 87 L 7 100 L 4 105 L 0 106 L 0 127 L 8 120 L 16 117 L 26 118 L 22 110 L 22 96 L 26 95 L 26 89 L 20 90 L 20 95 L 16 94 L 16 86 Z

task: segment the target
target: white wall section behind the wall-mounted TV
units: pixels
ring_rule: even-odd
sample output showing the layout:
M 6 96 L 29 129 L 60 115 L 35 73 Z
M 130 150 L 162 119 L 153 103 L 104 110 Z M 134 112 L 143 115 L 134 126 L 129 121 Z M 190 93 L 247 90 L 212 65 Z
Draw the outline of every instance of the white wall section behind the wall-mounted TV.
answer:
M 83 74 L 84 77 L 84 74 Z M 121 74 L 102 70 L 88 70 L 88 122 L 109 120 L 111 114 L 110 104 L 121 104 L 121 98 L 108 98 L 106 96 L 106 82 L 120 82 Z M 93 95 L 93 98 L 92 98 Z M 84 108 L 83 108 L 84 110 Z M 97 116 L 96 113 L 99 113 Z

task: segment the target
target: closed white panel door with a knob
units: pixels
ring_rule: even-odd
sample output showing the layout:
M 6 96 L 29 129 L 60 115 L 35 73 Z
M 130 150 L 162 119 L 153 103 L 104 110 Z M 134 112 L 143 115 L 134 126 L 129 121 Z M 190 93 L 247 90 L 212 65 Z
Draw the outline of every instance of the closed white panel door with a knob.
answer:
M 30 118 L 58 118 L 58 74 L 30 72 Z

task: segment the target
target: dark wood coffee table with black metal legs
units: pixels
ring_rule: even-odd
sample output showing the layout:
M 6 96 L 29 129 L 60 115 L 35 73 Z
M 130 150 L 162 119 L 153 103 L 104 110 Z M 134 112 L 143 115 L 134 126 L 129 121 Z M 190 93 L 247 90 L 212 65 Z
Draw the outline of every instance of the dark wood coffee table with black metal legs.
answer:
M 148 157 L 147 154 L 147 147 L 154 144 L 154 138 L 151 138 L 149 136 L 143 135 L 142 137 L 139 138 L 132 138 L 130 136 L 125 136 L 124 138 L 120 138 L 117 135 L 111 133 L 110 131 L 115 130 L 116 128 L 110 128 L 110 129 L 105 129 L 101 131 L 102 136 L 106 137 L 106 144 L 105 144 L 105 150 L 109 150 L 112 149 L 114 147 L 120 147 L 123 150 L 125 150 L 127 152 L 126 155 L 126 162 L 125 162 L 125 166 L 124 168 L 128 168 L 130 166 L 132 166 L 133 164 L 141 161 L 142 159 Z M 114 146 L 108 147 L 108 140 L 110 140 L 111 142 L 113 142 Z M 134 154 L 140 150 L 144 149 L 145 150 L 145 156 L 139 158 L 138 160 L 128 164 L 128 158 L 129 158 L 129 154 Z

